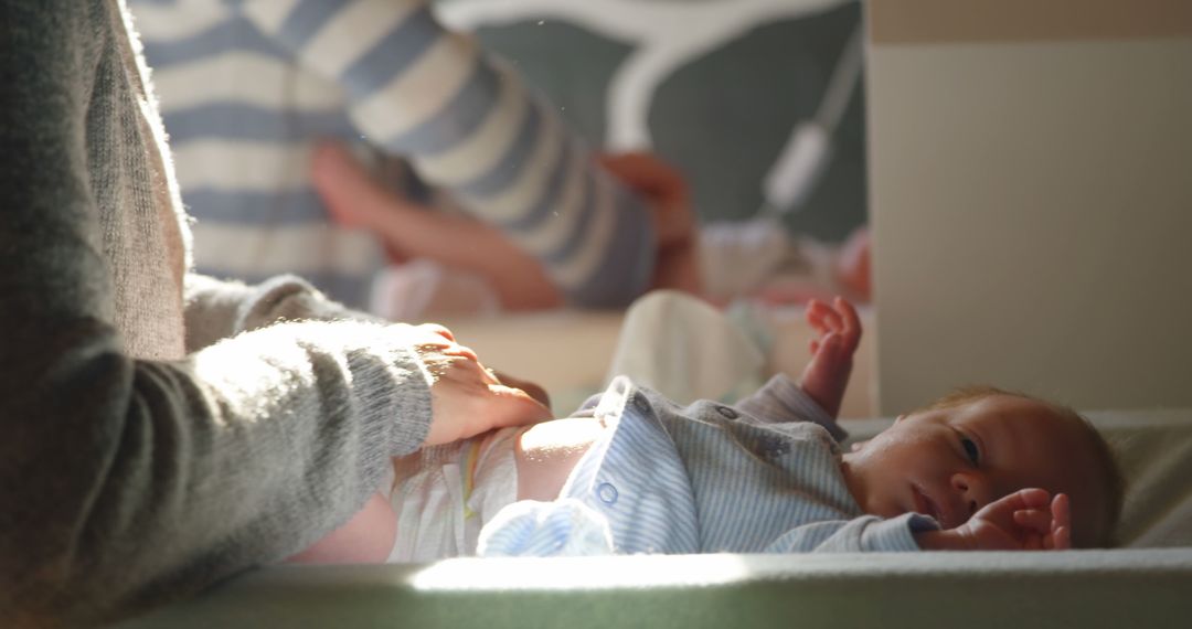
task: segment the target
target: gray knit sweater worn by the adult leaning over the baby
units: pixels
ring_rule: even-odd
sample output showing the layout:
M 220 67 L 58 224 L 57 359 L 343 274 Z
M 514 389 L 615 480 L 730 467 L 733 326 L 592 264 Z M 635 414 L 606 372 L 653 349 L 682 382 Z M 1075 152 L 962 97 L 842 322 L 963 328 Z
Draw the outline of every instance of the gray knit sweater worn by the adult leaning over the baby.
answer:
M 281 560 L 430 421 L 408 326 L 186 274 L 129 31 L 118 0 L 0 0 L 0 627 Z

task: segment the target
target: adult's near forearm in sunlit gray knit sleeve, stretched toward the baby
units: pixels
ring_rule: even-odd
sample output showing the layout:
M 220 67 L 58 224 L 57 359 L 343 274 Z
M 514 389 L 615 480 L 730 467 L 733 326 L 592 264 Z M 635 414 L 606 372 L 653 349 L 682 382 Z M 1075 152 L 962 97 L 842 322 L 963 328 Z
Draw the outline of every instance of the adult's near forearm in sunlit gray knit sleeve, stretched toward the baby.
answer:
M 6 417 L 37 422 L 6 425 L 0 453 L 0 598 L 126 611 L 341 524 L 429 423 L 424 374 L 377 331 L 280 325 L 173 365 L 100 329 L 45 347 L 26 366 L 44 376 L 5 392 Z

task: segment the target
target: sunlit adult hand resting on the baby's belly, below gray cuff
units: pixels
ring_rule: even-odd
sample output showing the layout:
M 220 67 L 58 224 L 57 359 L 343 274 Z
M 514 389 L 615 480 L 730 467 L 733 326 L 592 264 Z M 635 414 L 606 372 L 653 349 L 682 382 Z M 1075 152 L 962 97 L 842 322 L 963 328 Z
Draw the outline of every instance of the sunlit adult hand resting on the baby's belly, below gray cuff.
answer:
M 502 384 L 476 353 L 442 325 L 417 325 L 415 349 L 430 372 L 430 431 L 424 446 L 451 443 L 496 428 L 551 419 L 526 391 Z M 539 391 L 541 387 L 536 387 Z M 542 393 L 545 397 L 545 393 Z

